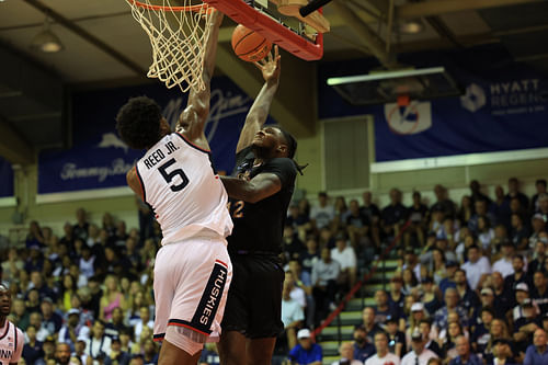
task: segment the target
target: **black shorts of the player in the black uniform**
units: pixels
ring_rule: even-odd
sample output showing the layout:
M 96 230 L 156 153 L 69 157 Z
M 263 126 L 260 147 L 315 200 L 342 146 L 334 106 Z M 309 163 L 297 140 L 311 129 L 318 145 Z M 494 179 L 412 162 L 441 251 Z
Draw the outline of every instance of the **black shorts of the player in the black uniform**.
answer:
M 231 254 L 232 282 L 228 290 L 222 331 L 249 339 L 276 338 L 282 322 L 285 273 L 274 255 Z

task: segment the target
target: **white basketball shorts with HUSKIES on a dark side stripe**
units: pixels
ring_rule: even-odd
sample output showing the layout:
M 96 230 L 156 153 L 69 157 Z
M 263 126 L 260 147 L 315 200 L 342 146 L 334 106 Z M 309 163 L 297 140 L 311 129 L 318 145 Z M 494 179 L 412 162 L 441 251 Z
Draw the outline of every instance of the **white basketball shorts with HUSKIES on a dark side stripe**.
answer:
M 218 341 L 232 264 L 224 238 L 198 237 L 163 246 L 155 263 L 155 341 L 168 326 L 195 342 Z

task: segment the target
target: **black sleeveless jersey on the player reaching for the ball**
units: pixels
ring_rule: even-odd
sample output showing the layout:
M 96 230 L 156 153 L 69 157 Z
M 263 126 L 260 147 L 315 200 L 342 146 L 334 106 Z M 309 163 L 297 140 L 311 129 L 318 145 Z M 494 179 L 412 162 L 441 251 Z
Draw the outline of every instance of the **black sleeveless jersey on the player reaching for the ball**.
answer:
M 256 203 L 230 201 L 230 215 L 233 220 L 232 235 L 227 238 L 231 253 L 273 253 L 282 249 L 287 207 L 295 189 L 297 169 L 292 159 L 274 158 L 253 167 L 254 155 L 251 147 L 236 156 L 235 176 L 252 179 L 260 173 L 274 173 L 282 182 L 276 194 Z

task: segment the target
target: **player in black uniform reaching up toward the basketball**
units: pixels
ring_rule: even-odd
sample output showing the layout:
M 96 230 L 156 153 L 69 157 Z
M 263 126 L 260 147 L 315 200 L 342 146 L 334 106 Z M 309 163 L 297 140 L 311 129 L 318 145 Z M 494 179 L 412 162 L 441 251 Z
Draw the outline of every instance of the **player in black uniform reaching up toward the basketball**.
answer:
M 270 365 L 283 331 L 278 261 L 287 207 L 295 186 L 297 142 L 278 127 L 264 127 L 279 82 L 279 56 L 255 64 L 265 83 L 246 118 L 235 176 L 221 176 L 235 224 L 228 237 L 232 283 L 228 292 L 219 357 L 222 365 Z

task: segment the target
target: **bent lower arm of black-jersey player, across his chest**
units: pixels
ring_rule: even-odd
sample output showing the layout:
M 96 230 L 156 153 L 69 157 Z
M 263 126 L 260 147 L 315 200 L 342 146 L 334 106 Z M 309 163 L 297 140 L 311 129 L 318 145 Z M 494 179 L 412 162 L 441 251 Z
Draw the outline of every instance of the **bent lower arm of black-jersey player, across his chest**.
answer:
M 228 196 L 235 199 L 256 203 L 282 190 L 282 181 L 274 173 L 260 173 L 247 181 L 231 176 L 220 176 Z

